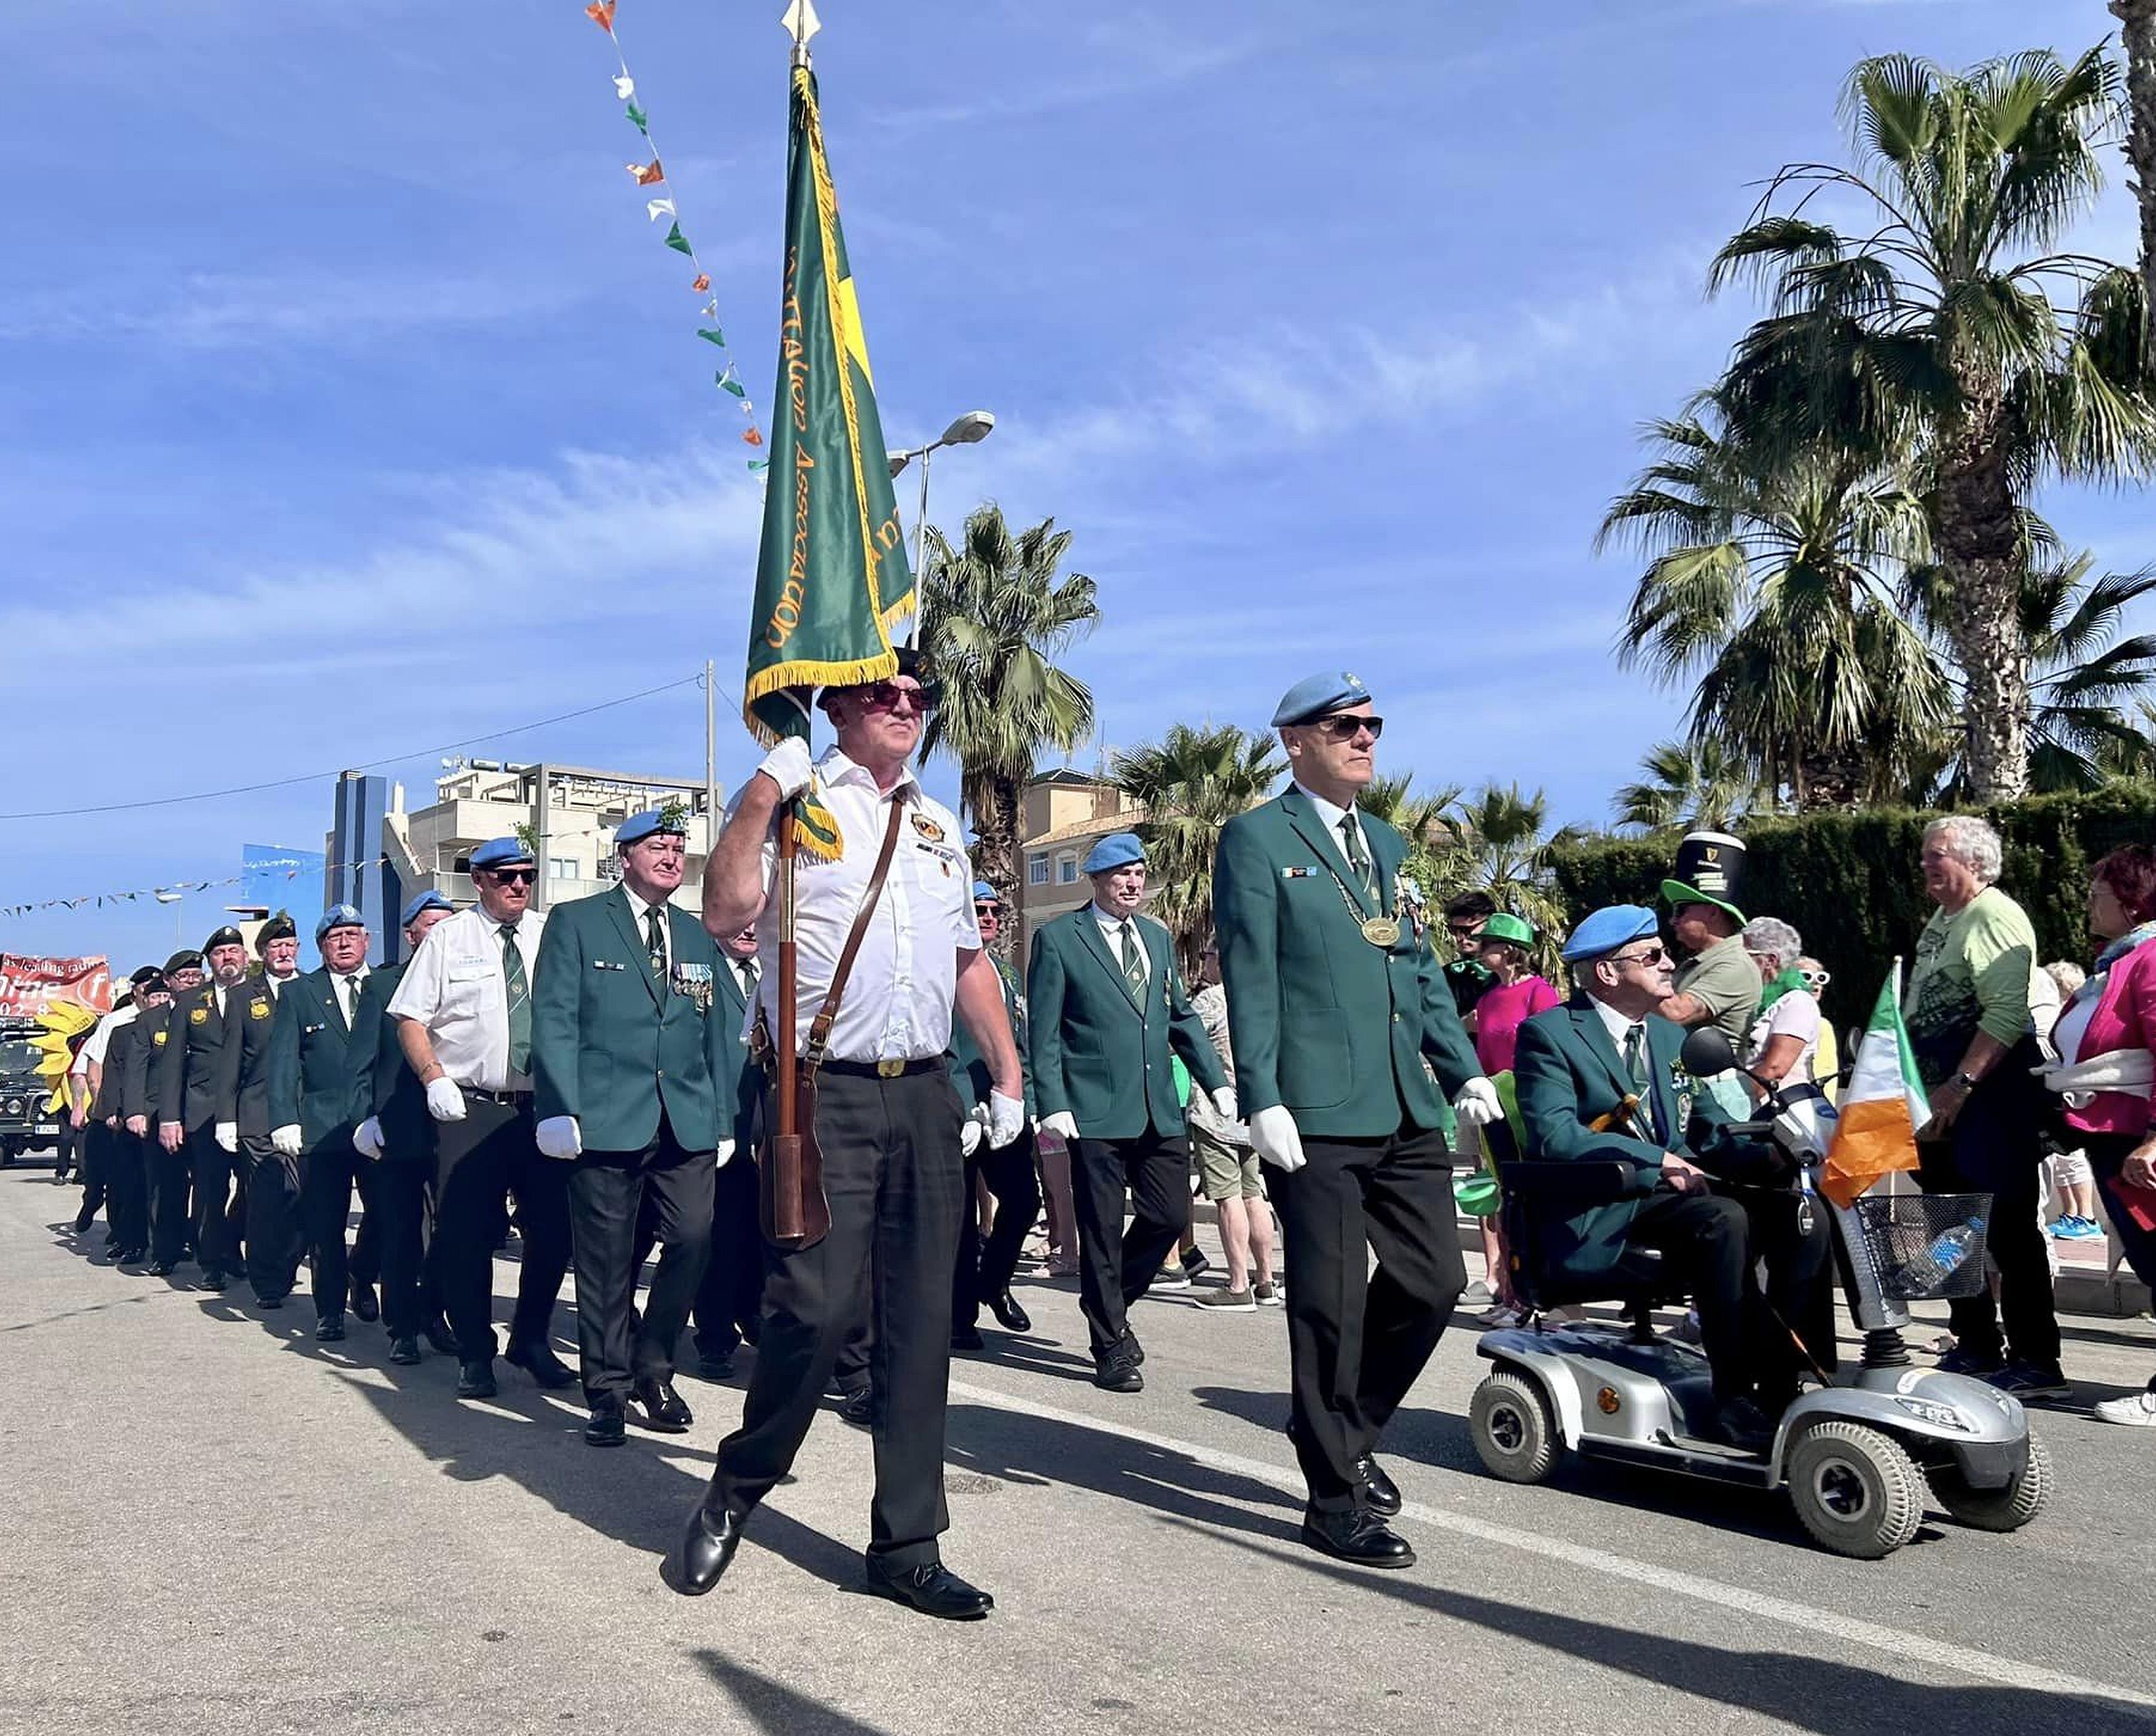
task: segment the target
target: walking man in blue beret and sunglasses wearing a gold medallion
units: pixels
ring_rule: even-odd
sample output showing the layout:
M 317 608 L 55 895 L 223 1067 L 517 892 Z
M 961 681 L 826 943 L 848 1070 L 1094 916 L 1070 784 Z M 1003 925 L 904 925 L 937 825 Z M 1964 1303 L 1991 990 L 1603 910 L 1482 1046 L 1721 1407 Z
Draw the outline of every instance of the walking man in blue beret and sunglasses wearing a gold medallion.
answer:
M 1384 733 L 1369 688 L 1311 675 L 1272 725 L 1294 785 L 1220 830 L 1214 923 L 1235 1089 L 1296 1264 L 1302 1542 L 1406 1568 L 1414 1551 L 1386 1525 L 1401 1497 L 1373 1451 L 1466 1290 L 1440 1087 L 1464 1121 L 1503 1111 L 1401 917 L 1406 839 L 1356 811 Z

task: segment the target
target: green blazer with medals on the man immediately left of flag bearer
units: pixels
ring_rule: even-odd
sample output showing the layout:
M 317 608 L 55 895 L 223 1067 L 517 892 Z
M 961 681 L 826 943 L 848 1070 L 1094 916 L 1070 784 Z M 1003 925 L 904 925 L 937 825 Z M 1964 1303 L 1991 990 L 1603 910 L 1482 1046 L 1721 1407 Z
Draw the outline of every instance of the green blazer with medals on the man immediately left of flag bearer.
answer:
M 556 904 L 533 970 L 533 1108 L 573 1115 L 586 1152 L 640 1152 L 660 1108 L 690 1152 L 718 1145 L 709 1009 L 718 947 L 686 910 L 666 908 L 668 981 L 614 886 Z

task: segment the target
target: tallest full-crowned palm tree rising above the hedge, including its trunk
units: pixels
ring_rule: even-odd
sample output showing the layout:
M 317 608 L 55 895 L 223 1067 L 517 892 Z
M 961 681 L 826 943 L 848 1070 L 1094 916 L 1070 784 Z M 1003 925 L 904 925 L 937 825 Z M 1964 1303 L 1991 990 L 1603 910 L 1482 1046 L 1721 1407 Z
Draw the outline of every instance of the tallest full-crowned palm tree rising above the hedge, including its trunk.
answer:
M 2119 75 L 2102 47 L 1968 73 L 1889 54 L 1850 73 L 1843 114 L 1858 166 L 1785 166 L 1714 259 L 1712 289 L 1749 278 L 1772 302 L 1718 403 L 1770 453 L 1910 453 L 1973 794 L 2005 800 L 2029 783 L 2022 502 L 2046 477 L 2111 481 L 2156 455 L 2141 278 L 2048 252 L 2102 188 Z M 1863 207 L 1848 233 L 1813 216 L 1822 194 Z

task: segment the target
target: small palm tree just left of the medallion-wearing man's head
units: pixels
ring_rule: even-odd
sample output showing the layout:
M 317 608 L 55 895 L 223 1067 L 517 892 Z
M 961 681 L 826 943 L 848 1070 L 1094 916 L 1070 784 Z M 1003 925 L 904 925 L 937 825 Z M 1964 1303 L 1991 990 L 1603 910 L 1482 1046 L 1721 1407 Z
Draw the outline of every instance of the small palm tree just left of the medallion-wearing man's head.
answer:
M 1274 735 L 1250 735 L 1235 725 L 1177 722 L 1158 742 L 1119 750 L 1108 761 L 1108 779 L 1145 807 L 1138 835 L 1151 865 L 1147 908 L 1166 923 L 1188 975 L 1197 973 L 1212 938 L 1220 828 L 1263 802 L 1283 770 Z

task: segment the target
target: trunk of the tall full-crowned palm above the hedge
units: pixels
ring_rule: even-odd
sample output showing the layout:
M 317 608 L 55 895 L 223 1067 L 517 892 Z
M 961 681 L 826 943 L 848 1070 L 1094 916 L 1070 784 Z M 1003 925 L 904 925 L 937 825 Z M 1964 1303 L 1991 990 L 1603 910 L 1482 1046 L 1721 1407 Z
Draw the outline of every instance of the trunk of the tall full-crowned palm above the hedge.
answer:
M 1964 382 L 1962 433 L 1938 477 L 1938 556 L 1951 600 L 1947 636 L 1962 664 L 1971 796 L 2029 791 L 2029 647 L 2020 628 L 2022 546 L 1999 427 L 1996 382 Z

